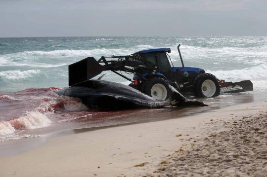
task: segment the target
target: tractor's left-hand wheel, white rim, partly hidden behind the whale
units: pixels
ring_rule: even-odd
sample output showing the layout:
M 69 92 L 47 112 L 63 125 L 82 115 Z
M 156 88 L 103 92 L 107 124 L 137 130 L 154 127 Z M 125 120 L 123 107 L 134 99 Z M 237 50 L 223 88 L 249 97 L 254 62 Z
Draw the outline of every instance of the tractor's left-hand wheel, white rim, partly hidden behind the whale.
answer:
M 153 90 L 155 90 L 155 88 L 160 88 L 160 90 L 162 91 L 163 94 L 158 93 L 157 90 L 154 91 L 154 94 L 151 94 L 152 87 L 153 87 Z M 166 93 L 165 93 L 165 91 L 166 91 Z M 144 94 L 146 94 L 152 98 L 158 99 L 158 100 L 166 100 L 171 95 L 171 89 L 169 87 L 169 83 L 164 78 L 161 78 L 161 77 L 152 77 L 152 78 L 148 79 L 143 84 L 142 92 Z

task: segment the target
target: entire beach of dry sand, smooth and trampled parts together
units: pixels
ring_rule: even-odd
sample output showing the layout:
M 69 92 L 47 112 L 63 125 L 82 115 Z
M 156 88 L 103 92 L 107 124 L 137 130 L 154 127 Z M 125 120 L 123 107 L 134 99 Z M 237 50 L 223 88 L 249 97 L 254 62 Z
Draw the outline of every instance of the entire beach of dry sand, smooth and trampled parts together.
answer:
M 266 111 L 250 103 L 55 137 L 0 158 L 0 177 L 266 177 Z

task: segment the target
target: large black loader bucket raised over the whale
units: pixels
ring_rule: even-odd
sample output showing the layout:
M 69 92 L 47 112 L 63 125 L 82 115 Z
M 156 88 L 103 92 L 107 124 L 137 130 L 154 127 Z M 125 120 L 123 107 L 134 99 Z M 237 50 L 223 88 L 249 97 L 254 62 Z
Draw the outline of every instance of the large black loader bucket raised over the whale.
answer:
M 91 79 L 104 70 L 93 57 L 69 65 L 69 86 Z

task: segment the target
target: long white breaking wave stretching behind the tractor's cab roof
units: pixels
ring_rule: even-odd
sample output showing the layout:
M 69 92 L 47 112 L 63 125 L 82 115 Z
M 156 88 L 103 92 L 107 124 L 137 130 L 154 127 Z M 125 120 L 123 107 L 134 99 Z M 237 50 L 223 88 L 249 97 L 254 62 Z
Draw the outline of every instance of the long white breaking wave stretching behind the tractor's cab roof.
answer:
M 145 48 L 162 47 L 162 46 L 151 46 L 151 45 L 135 45 L 133 47 L 123 47 L 123 48 L 95 48 L 90 50 L 53 50 L 53 51 L 25 51 L 13 54 L 7 54 L 6 56 L 50 56 L 50 57 L 76 57 L 76 56 L 99 56 L 99 55 L 129 55 L 138 50 Z M 170 47 L 172 49 L 172 54 L 178 54 L 177 44 Z M 202 47 L 202 46 L 190 46 L 181 45 L 181 50 L 183 54 L 196 53 L 204 56 L 211 55 L 255 55 L 263 56 L 267 55 L 267 46 L 257 46 L 257 47 Z M 5 55 L 4 55 L 5 56 Z

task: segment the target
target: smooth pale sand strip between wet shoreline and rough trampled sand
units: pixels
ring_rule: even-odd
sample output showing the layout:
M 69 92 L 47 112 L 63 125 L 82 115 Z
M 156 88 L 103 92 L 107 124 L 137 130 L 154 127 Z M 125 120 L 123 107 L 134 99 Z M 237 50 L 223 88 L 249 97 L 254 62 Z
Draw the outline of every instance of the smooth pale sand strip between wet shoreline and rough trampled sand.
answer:
M 177 119 L 53 137 L 29 151 L 0 158 L 0 176 L 140 176 L 152 173 L 184 144 L 226 130 L 223 122 L 266 110 L 266 101 L 248 103 Z

